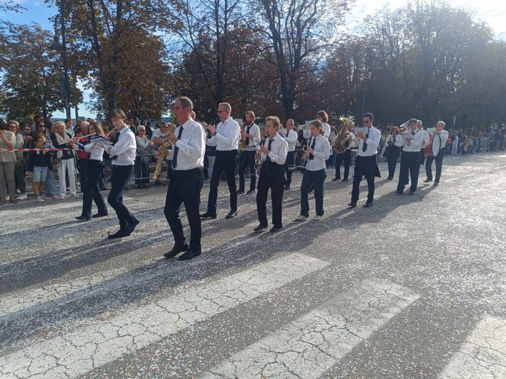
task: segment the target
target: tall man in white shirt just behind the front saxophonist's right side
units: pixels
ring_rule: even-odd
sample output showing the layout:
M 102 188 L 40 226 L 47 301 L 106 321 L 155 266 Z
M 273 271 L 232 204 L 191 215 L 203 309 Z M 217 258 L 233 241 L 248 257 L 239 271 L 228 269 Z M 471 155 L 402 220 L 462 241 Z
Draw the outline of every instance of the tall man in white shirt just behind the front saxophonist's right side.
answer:
M 218 126 L 207 125 L 209 134 L 212 135 L 206 142 L 209 146 L 216 146 L 216 161 L 213 166 L 207 201 L 207 211 L 200 218 L 216 218 L 216 202 L 218 199 L 218 185 L 225 171 L 228 189 L 230 191 L 230 212 L 226 218 L 237 216 L 237 187 L 235 185 L 235 165 L 239 152 L 239 124 L 230 117 L 232 107 L 229 103 L 221 103 L 218 106 Z

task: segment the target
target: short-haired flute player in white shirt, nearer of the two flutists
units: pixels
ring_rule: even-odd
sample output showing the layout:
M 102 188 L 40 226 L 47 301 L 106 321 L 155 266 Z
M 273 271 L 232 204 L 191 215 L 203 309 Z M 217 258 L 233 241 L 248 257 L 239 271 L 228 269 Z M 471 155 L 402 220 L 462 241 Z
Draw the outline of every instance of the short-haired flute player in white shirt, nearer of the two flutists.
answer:
M 119 230 L 109 234 L 107 238 L 115 239 L 132 234 L 139 224 L 139 219 L 123 204 L 123 190 L 134 172 L 137 143 L 135 134 L 125 123 L 126 115 L 121 109 L 112 109 L 107 114 L 106 119 L 111 122 L 113 127 L 117 128 L 117 142 L 113 146 L 105 148 L 107 154 L 114 160 L 112 163 L 114 170 L 112 170 L 111 176 L 111 192 L 107 197 L 107 202 L 116 211 L 119 220 Z

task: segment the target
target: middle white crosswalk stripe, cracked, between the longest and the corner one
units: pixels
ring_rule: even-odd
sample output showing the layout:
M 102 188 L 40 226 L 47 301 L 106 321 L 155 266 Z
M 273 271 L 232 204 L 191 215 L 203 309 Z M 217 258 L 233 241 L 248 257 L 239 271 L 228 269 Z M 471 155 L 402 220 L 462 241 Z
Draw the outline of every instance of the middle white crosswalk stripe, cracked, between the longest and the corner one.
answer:
M 418 298 L 369 278 L 209 369 L 202 379 L 317 378 Z

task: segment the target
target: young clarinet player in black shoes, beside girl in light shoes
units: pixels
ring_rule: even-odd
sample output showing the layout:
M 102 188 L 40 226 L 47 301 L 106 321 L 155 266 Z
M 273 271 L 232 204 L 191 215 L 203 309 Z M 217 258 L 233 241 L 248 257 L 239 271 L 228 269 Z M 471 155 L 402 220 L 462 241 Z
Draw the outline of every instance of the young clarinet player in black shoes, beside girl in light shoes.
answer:
M 267 194 L 271 189 L 272 200 L 272 223 L 273 227 L 269 230 L 275 232 L 283 227 L 281 219 L 281 202 L 283 200 L 283 181 L 284 164 L 288 153 L 288 143 L 283 136 L 279 135 L 279 118 L 268 116 L 265 119 L 266 131 L 269 137 L 265 144 L 260 147 L 260 153 L 255 158 L 262 163 L 260 178 L 258 179 L 257 191 L 257 210 L 260 224 L 253 229 L 261 231 L 267 228 Z

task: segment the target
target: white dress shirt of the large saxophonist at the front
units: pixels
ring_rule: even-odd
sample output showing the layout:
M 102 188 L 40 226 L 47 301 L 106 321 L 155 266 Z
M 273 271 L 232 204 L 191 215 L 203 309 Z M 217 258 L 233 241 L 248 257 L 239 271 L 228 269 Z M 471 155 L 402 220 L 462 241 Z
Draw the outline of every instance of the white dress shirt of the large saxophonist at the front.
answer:
M 179 149 L 177 165 L 173 168 L 176 171 L 191 170 L 193 168 L 204 167 L 205 154 L 205 132 L 202 126 L 192 119 L 178 126 L 174 131 L 176 137 L 179 135 L 179 129 L 183 128 L 181 138 L 176 142 Z M 174 158 L 174 146 L 168 150 L 169 159 Z

